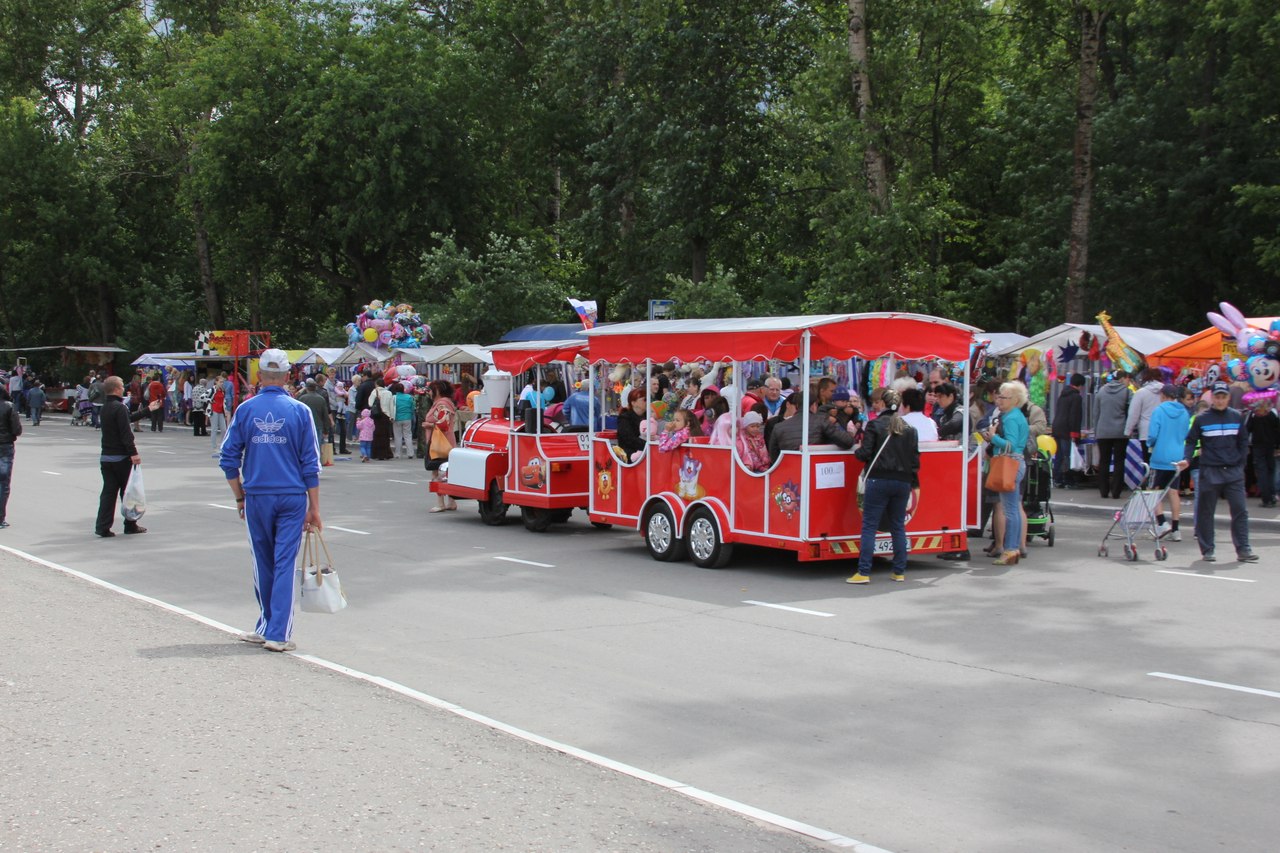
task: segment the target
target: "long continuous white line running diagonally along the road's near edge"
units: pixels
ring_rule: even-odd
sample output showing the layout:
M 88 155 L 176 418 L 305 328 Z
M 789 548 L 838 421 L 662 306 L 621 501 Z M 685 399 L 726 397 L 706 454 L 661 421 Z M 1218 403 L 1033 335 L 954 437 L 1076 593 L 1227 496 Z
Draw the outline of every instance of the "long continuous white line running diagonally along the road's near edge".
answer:
M 84 574 L 83 571 L 77 571 L 74 569 L 68 569 L 67 566 L 60 566 L 56 562 L 41 560 L 40 557 L 29 555 L 24 551 L 18 551 L 17 548 L 10 548 L 8 546 L 0 546 L 0 551 L 6 551 L 8 553 L 15 555 L 24 560 L 29 560 L 31 562 L 35 562 L 37 565 L 46 566 L 49 569 L 54 569 L 55 571 L 61 571 L 64 574 L 72 575 L 73 578 L 87 580 L 91 584 L 96 584 L 104 589 L 120 593 L 122 596 L 134 598 L 147 605 L 155 605 L 156 607 L 166 610 L 170 613 L 186 616 L 187 619 L 195 620 L 202 625 L 209 625 L 210 628 L 223 631 L 224 634 L 229 634 L 232 637 L 239 637 L 241 634 L 241 630 L 238 628 L 232 628 L 225 622 L 219 622 L 216 620 L 209 619 L 207 616 L 201 616 L 200 613 L 192 612 L 183 607 L 178 607 L 175 605 L 170 605 L 168 602 L 160 601 L 159 598 L 151 598 L 150 596 L 136 593 L 132 589 L 125 589 L 124 587 L 119 587 L 110 581 L 101 580 L 99 578 L 95 578 L 93 575 Z M 502 722 L 500 720 L 494 720 L 493 717 L 488 717 L 483 713 L 476 713 L 475 711 L 467 711 L 466 708 L 453 704 L 452 702 L 448 702 L 445 699 L 438 699 L 434 695 L 429 695 L 420 690 L 415 690 L 413 688 L 399 684 L 398 681 L 384 679 L 380 675 L 370 675 L 369 672 L 361 672 L 360 670 L 353 670 L 348 666 L 343 666 L 342 663 L 334 663 L 333 661 L 326 661 L 323 657 L 315 657 L 314 654 L 292 653 L 292 657 L 307 661 L 308 663 L 314 663 L 316 666 L 321 666 L 326 670 L 338 672 L 340 675 L 347 675 L 349 678 L 385 688 L 388 690 L 392 690 L 393 693 L 399 693 L 403 697 L 407 697 L 416 702 L 421 702 L 422 704 L 428 704 L 434 708 L 442 708 L 460 717 L 463 717 L 465 720 L 479 722 L 480 725 L 486 726 L 489 729 L 494 729 L 495 731 L 504 731 L 527 743 L 534 743 L 540 747 L 547 747 L 548 749 L 554 749 L 556 752 L 563 753 L 566 756 L 581 758 L 582 761 L 595 765 L 596 767 L 613 770 L 614 772 L 623 774 L 625 776 L 631 776 L 632 779 L 639 779 L 641 781 L 659 785 L 677 794 L 684 794 L 685 797 L 689 797 L 691 799 L 709 803 L 712 806 L 718 806 L 719 808 L 724 808 L 737 815 L 744 815 L 746 817 L 751 817 L 764 824 L 771 824 L 780 829 L 786 829 L 792 833 L 797 833 L 800 835 L 808 835 L 809 838 L 815 838 L 819 841 L 826 841 L 831 844 L 832 847 L 849 848 L 854 850 L 854 853 L 890 853 L 883 848 L 868 844 L 865 841 L 859 841 L 855 838 L 849 838 L 847 835 L 840 835 L 838 833 L 832 833 L 829 830 L 824 830 L 819 826 L 813 826 L 810 824 L 801 824 L 800 821 L 794 821 L 790 817 L 783 817 L 782 815 L 774 815 L 773 812 L 767 812 L 762 808 L 755 808 L 754 806 L 740 803 L 737 800 L 728 799 L 726 797 L 721 797 L 710 792 L 705 792 L 700 788 L 692 788 L 684 783 L 676 781 L 675 779 L 667 779 L 666 776 L 652 774 L 648 770 L 641 770 L 640 767 L 632 767 L 631 765 L 625 765 L 621 761 L 614 761 L 612 758 L 607 758 L 605 756 L 600 756 L 594 752 L 588 752 L 586 749 L 580 749 L 579 747 L 572 747 L 566 743 L 559 743 L 558 740 L 544 738 L 539 734 L 534 734 L 532 731 L 526 731 L 525 729 L 517 729 L 516 726 Z

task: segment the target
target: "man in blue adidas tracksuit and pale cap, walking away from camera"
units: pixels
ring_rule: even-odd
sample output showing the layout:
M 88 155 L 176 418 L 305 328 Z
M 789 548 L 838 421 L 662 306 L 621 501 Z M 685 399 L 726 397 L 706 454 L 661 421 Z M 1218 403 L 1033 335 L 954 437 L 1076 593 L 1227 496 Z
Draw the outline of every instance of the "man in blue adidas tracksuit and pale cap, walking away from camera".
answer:
M 303 530 L 319 532 L 320 448 L 311 410 L 284 391 L 289 359 L 268 350 L 259 359 L 261 393 L 236 409 L 219 465 L 248 524 L 259 620 L 247 643 L 271 652 L 297 648 L 293 562 Z M 244 479 L 241 480 L 243 467 Z

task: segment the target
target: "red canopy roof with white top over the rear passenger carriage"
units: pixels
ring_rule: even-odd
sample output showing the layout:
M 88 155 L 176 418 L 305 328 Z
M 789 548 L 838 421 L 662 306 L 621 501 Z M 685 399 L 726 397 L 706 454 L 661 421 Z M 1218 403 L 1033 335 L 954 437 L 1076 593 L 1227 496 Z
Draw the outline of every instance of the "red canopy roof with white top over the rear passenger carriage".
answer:
M 826 314 L 818 316 L 732 318 L 617 323 L 584 332 L 593 361 L 794 361 L 810 336 L 814 359 L 969 357 L 972 325 L 924 314 Z M 494 353 L 497 359 L 497 353 Z

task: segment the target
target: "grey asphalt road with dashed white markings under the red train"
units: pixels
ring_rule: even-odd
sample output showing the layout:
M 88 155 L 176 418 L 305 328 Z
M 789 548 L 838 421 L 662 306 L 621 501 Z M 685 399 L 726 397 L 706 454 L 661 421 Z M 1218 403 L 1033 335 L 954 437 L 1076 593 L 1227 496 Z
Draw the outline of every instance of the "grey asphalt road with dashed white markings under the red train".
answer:
M 251 625 L 207 439 L 142 433 L 151 533 L 99 540 L 96 433 L 46 423 L 0 544 Z M 1253 530 L 1260 564 L 1230 560 L 1225 524 L 1212 566 L 1190 540 L 1126 562 L 1097 556 L 1105 511 L 1064 511 L 1016 567 L 922 557 L 861 588 L 846 564 L 740 549 L 705 571 L 581 517 L 539 535 L 430 500 L 420 462 L 325 469 L 352 603 L 301 615 L 300 653 L 888 850 L 1249 850 L 1280 830 L 1277 525 Z

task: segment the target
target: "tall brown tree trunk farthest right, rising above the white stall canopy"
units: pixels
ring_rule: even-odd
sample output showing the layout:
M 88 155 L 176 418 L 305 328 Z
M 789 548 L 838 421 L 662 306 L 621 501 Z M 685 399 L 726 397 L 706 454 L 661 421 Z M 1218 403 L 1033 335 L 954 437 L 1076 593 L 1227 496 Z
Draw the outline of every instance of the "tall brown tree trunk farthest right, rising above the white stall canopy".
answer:
M 1105 12 L 1080 6 L 1080 68 L 1075 93 L 1075 152 L 1071 163 L 1071 232 L 1066 256 L 1068 323 L 1084 321 L 1089 274 L 1089 209 L 1093 204 L 1093 114 L 1098 101 L 1098 47 Z

